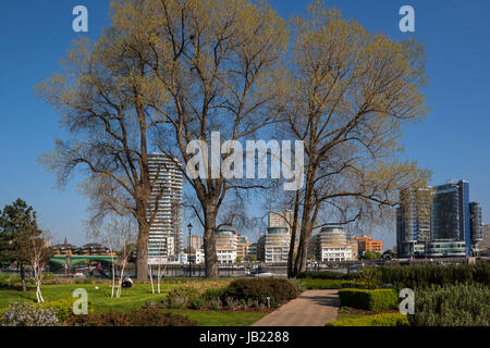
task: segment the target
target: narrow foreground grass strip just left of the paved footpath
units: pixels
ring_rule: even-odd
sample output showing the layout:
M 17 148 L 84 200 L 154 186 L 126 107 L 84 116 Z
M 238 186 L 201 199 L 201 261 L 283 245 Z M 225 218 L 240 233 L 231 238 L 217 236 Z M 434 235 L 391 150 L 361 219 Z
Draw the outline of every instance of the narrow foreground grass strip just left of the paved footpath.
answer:
M 198 322 L 199 326 L 249 326 L 267 314 L 260 312 L 191 311 L 181 309 L 164 311 L 186 315 Z

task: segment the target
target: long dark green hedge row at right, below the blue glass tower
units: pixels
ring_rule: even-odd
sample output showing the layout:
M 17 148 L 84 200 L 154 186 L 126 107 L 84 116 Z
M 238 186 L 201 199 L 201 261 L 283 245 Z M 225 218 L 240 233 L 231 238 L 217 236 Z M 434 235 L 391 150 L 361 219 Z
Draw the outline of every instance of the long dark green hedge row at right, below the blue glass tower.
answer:
M 408 287 L 428 288 L 431 285 L 485 284 L 490 286 L 490 263 L 486 261 L 476 264 L 411 264 L 383 266 L 381 279 L 394 284 L 399 289 Z

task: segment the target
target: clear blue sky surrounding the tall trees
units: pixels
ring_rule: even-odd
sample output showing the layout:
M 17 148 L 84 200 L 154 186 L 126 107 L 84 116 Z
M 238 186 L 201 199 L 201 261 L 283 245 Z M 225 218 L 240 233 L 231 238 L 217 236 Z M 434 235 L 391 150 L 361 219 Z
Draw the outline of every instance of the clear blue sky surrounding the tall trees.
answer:
M 289 17 L 304 13 L 306 2 L 270 0 Z M 402 144 L 406 159 L 433 171 L 432 185 L 448 179 L 469 181 L 470 199 L 490 207 L 490 2 L 487 0 L 335 0 L 328 7 L 358 20 L 371 33 L 394 39 L 416 37 L 427 47 L 432 112 L 406 127 Z M 58 71 L 58 62 L 78 34 L 72 30 L 72 9 L 89 13 L 89 33 L 97 38 L 108 25 L 108 0 L 29 0 L 0 2 L 0 207 L 21 197 L 38 212 L 40 225 L 57 240 L 86 241 L 83 221 L 88 202 L 76 194 L 76 179 L 64 190 L 37 164 L 41 152 L 62 138 L 58 115 L 37 100 L 33 86 Z M 415 9 L 415 33 L 399 29 L 399 9 Z M 186 224 L 186 222 L 184 222 Z M 194 224 L 197 225 L 197 224 Z M 394 228 L 375 237 L 394 245 Z

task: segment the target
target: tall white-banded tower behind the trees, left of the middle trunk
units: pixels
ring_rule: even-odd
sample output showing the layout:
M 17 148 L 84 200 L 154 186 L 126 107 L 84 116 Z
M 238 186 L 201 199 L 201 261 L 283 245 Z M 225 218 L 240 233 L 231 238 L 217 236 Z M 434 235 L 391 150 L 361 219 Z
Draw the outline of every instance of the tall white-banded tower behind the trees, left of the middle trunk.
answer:
M 148 263 L 177 260 L 182 243 L 182 172 L 177 159 L 163 153 L 148 154 L 151 196 L 148 216 L 156 211 L 148 239 Z

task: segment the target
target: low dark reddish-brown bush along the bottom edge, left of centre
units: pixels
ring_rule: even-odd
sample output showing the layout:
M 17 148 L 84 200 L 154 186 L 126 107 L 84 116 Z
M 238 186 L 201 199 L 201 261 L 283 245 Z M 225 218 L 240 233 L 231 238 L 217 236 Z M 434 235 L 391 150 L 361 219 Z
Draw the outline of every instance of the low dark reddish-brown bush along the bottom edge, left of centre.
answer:
M 142 308 L 128 313 L 81 314 L 69 319 L 71 326 L 197 326 L 187 316 L 163 313 L 158 308 Z

